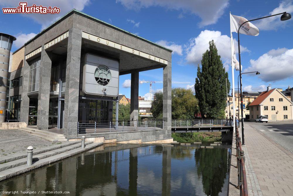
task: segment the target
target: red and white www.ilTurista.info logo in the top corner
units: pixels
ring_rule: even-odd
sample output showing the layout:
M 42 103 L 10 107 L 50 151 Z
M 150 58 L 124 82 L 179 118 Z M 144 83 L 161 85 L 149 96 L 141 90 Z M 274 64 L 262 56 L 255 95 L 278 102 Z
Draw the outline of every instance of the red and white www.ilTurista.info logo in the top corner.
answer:
M 28 6 L 28 2 L 19 2 L 16 8 L 2 8 L 3 14 L 59 14 L 59 7 L 45 7 L 42 5 L 37 6 L 33 4 Z

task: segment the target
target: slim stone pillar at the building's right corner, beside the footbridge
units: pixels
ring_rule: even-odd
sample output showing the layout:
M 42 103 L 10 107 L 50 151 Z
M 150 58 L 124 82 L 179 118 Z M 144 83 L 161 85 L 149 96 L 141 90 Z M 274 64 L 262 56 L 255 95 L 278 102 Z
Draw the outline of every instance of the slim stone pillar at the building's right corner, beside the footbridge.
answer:
M 172 118 L 172 69 L 171 61 L 163 68 L 163 120 L 165 129 L 171 131 Z

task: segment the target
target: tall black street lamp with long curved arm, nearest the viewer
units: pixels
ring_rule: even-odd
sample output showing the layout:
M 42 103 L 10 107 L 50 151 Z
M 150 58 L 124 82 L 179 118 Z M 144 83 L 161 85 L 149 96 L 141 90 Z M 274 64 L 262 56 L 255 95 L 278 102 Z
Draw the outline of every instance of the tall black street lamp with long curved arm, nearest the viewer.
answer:
M 241 58 L 240 58 L 240 39 L 239 39 L 239 30 L 241 28 L 241 26 L 247 22 L 250 22 L 250 21 L 255 21 L 255 20 L 260 20 L 260 19 L 264 19 L 264 18 L 268 18 L 268 17 L 272 17 L 272 16 L 277 16 L 277 15 L 280 15 L 282 14 L 281 16 L 281 21 L 285 21 L 285 20 L 289 20 L 291 18 L 291 15 L 287 12 L 283 12 L 283 13 L 279 13 L 279 14 L 274 14 L 274 15 L 271 15 L 271 16 L 265 16 L 265 17 L 261 17 L 261 18 L 258 18 L 258 19 L 252 19 L 252 20 L 248 20 L 246 22 L 243 22 L 239 28 L 238 28 L 238 54 L 239 54 L 239 76 L 240 76 L 240 93 L 241 93 L 241 105 L 243 105 L 243 97 L 242 97 L 242 76 L 241 76 Z M 243 117 L 243 107 L 241 107 L 241 116 Z M 243 118 L 241 119 L 241 125 L 242 125 L 242 145 L 245 145 L 244 143 L 244 120 Z

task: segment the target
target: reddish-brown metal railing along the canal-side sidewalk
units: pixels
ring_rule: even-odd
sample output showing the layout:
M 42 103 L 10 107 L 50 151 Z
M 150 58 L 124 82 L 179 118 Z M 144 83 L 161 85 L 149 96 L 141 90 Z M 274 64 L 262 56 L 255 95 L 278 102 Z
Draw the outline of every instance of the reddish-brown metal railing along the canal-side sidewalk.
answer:
M 240 189 L 241 196 L 248 196 L 246 171 L 245 171 L 245 157 L 242 150 L 241 138 L 239 136 L 239 130 L 236 127 L 236 156 L 237 156 L 237 168 L 238 168 L 238 188 Z

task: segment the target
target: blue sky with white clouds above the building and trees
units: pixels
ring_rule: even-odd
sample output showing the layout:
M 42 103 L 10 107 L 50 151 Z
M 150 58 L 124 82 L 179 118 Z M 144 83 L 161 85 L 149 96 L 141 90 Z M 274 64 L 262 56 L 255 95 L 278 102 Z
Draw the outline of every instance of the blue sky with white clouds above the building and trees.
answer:
M 16 7 L 19 1 L 0 0 L 2 7 Z M 58 17 L 75 8 L 86 14 L 137 33 L 148 40 L 173 49 L 172 81 L 190 82 L 172 87 L 192 88 L 197 64 L 211 39 L 215 40 L 226 71 L 231 77 L 230 23 L 231 14 L 254 19 L 287 11 L 293 14 L 291 1 L 229 1 L 229 0 L 113 0 L 113 1 L 28 1 L 28 5 L 57 6 L 59 15 L 0 14 L 2 32 L 17 37 L 12 51 L 50 25 Z M 293 87 L 293 19 L 280 21 L 280 16 L 253 22 L 260 30 L 259 36 L 240 34 L 243 72 L 259 71 L 260 75 L 243 75 L 245 91 L 263 91 L 270 83 L 272 88 Z M 5 27 L 5 28 L 3 28 Z M 237 33 L 233 33 L 237 45 Z M 237 46 L 236 50 L 237 50 Z M 238 55 L 236 55 L 238 58 Z M 235 71 L 235 84 L 237 76 Z M 140 72 L 140 80 L 162 81 L 163 70 Z M 130 75 L 120 76 L 119 93 L 130 98 Z M 126 81 L 126 82 L 125 82 Z M 124 83 L 125 82 L 125 83 Z M 124 83 L 124 85 L 123 85 Z M 128 88 L 127 88 L 128 87 Z M 163 84 L 153 84 L 153 92 Z M 149 97 L 149 85 L 140 84 L 139 95 Z

